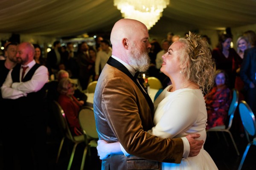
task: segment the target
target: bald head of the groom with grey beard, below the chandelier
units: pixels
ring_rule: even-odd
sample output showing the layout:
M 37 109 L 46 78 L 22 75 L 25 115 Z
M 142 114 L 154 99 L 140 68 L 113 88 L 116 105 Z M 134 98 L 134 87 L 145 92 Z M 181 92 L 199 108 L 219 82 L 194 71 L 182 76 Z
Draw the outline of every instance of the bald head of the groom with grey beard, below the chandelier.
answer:
M 137 20 L 121 19 L 111 31 L 112 54 L 129 64 L 135 71 L 146 71 L 149 66 L 148 28 Z

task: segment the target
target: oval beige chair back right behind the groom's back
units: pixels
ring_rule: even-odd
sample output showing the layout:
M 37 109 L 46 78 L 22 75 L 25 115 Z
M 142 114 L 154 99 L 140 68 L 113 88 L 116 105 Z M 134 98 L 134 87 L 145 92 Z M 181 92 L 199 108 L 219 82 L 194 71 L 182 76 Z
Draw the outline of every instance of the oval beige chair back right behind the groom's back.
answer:
M 94 139 L 99 138 L 93 108 L 84 106 L 79 112 L 79 122 L 84 134 Z

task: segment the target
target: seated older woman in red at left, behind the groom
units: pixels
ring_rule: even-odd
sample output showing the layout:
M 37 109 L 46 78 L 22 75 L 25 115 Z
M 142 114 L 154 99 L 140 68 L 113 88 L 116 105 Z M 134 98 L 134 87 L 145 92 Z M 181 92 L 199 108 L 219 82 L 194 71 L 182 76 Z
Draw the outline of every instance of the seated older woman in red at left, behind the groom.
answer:
M 63 78 L 58 84 L 58 103 L 63 109 L 67 122 L 70 126 L 73 135 L 82 135 L 82 130 L 79 124 L 78 114 L 82 107 L 81 103 L 73 95 L 75 92 L 75 84 L 72 79 Z

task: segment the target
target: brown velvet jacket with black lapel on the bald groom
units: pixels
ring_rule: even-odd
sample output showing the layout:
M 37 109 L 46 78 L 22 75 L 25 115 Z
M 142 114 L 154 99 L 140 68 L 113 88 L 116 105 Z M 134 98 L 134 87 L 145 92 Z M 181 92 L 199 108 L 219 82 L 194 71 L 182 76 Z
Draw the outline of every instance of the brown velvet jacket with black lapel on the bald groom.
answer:
M 102 160 L 102 169 L 157 170 L 159 162 L 180 163 L 182 139 L 161 139 L 147 133 L 154 126 L 154 105 L 127 68 L 112 57 L 99 77 L 93 108 L 99 139 L 119 141 L 131 154 L 108 156 Z

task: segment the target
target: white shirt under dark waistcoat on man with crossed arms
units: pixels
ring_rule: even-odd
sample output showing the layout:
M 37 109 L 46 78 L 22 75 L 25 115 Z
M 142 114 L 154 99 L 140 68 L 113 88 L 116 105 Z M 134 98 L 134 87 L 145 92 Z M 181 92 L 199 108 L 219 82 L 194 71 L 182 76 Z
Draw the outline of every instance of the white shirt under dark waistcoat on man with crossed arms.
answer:
M 35 65 L 35 60 L 27 65 L 24 77 L 28 71 Z M 18 99 L 22 96 L 27 96 L 28 93 L 37 92 L 48 82 L 48 70 L 44 65 L 41 65 L 34 73 L 32 78 L 27 82 L 13 82 L 12 70 L 9 71 L 3 86 L 1 87 L 2 97 L 4 99 Z M 20 81 L 22 68 L 20 67 Z

